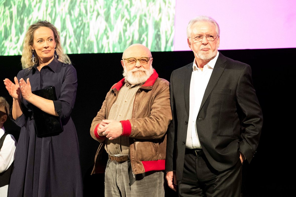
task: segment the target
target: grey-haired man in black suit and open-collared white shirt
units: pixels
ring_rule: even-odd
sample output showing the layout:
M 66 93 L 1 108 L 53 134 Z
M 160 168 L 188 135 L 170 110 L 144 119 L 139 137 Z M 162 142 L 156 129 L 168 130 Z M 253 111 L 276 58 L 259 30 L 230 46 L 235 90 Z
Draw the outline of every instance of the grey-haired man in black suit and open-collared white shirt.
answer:
M 240 196 L 242 163 L 252 160 L 260 138 L 251 68 L 218 52 L 219 34 L 211 17 L 192 19 L 187 37 L 194 62 L 170 78 L 165 170 L 179 196 Z

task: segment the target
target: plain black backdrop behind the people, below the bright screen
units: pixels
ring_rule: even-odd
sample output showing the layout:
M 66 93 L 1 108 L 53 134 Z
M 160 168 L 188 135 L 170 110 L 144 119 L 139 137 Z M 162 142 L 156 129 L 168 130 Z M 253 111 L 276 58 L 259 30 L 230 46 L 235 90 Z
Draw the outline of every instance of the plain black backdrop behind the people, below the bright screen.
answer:
M 264 123 L 257 153 L 250 164 L 246 162 L 243 165 L 243 196 L 294 196 L 295 63 L 291 63 L 291 59 L 296 48 L 220 52 L 252 67 L 253 84 L 263 110 Z M 99 144 L 91 138 L 89 128 L 107 91 L 122 79 L 122 53 L 69 56 L 78 76 L 77 97 L 71 116 L 79 140 L 84 194 L 101 196 L 104 175 L 90 175 Z M 194 59 L 192 51 L 152 52 L 152 56 L 153 67 L 161 78 L 167 80 L 174 69 L 185 66 Z M 0 56 L 0 79 L 12 80 L 20 69 L 20 56 Z M 0 95 L 12 104 L 4 84 L 0 85 Z M 9 120 L 4 126 L 18 139 L 20 129 L 17 126 Z M 177 195 L 167 190 L 166 196 Z

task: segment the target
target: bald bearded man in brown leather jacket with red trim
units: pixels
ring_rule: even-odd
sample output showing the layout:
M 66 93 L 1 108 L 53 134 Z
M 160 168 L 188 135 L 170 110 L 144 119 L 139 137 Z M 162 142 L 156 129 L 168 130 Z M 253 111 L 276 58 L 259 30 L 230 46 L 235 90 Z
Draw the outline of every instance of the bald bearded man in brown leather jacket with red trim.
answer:
M 170 92 L 169 82 L 158 77 L 152 60 L 150 50 L 141 44 L 123 52 L 124 78 L 111 87 L 91 123 L 91 136 L 109 154 L 105 197 L 164 196 Z

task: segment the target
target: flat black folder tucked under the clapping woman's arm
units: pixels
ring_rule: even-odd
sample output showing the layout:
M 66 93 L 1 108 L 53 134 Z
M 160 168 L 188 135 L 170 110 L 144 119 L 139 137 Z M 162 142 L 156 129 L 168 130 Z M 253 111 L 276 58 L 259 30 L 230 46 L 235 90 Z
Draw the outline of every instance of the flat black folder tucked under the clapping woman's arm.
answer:
M 57 100 L 54 87 L 35 90 L 32 91 L 32 93 L 48 100 Z M 50 115 L 37 108 L 35 105 L 32 105 L 32 111 L 38 137 L 53 136 L 63 131 L 62 122 L 59 116 Z

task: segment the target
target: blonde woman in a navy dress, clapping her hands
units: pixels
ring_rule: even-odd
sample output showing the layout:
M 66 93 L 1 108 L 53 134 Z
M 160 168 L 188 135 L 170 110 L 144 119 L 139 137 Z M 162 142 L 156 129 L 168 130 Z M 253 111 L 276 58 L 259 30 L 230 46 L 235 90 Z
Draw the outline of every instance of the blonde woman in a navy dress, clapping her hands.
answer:
M 23 69 L 14 83 L 4 80 L 13 98 L 11 119 L 21 127 L 9 196 L 83 196 L 78 139 L 70 117 L 76 97 L 76 70 L 63 53 L 54 25 L 39 20 L 29 27 L 21 62 Z M 57 100 L 32 93 L 48 87 L 55 88 Z M 63 131 L 37 136 L 33 105 L 59 116 Z

